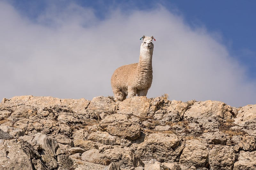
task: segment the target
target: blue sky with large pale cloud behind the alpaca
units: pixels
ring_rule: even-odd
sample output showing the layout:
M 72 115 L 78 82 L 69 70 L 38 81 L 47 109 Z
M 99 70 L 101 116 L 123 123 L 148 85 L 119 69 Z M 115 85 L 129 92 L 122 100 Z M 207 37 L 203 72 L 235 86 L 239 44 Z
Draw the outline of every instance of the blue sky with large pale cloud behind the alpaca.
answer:
M 154 35 L 147 97 L 256 104 L 254 0 L 0 0 L 0 98 L 92 100 Z

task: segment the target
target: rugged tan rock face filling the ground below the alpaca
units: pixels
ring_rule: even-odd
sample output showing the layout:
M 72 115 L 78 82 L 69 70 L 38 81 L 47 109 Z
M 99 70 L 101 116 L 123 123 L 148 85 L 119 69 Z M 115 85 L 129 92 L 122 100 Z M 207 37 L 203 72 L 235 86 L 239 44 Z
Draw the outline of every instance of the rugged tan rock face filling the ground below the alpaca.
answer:
M 0 103 L 0 169 L 256 169 L 256 105 L 164 97 Z

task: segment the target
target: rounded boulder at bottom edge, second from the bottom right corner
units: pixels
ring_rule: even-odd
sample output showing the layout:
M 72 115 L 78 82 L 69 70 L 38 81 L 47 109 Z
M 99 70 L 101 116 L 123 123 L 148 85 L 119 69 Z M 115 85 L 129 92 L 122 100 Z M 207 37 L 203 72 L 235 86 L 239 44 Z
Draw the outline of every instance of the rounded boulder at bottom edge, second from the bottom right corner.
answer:
M 209 152 L 211 169 L 232 170 L 236 160 L 236 153 L 231 146 L 215 145 Z

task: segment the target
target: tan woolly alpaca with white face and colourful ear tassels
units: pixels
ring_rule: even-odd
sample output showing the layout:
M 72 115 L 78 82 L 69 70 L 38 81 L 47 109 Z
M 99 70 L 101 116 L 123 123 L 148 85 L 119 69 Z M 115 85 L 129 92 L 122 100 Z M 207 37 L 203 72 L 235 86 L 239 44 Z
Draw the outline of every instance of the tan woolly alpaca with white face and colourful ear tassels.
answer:
M 111 86 L 116 101 L 123 101 L 132 96 L 146 96 L 153 79 L 152 55 L 153 36 L 144 36 L 140 46 L 139 63 L 123 65 L 117 68 L 111 77 Z M 154 39 L 155 40 L 155 39 Z M 156 41 L 156 40 L 155 40 Z

